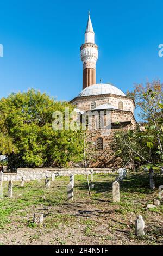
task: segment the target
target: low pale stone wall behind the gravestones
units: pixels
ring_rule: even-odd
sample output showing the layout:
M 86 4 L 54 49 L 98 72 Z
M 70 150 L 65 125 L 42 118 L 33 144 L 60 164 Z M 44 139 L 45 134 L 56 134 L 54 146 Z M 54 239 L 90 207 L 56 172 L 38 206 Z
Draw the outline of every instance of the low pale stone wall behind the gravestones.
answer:
M 88 168 L 87 172 L 90 174 L 90 170 L 92 168 Z M 115 173 L 117 170 L 115 169 L 103 169 L 103 168 L 95 168 L 93 169 L 94 173 Z M 85 175 L 85 169 L 84 168 L 76 168 L 76 169 L 27 169 L 27 168 L 19 168 L 17 169 L 16 173 L 3 173 L 3 180 L 4 181 L 20 181 L 22 177 L 26 179 L 26 181 L 29 180 L 37 180 L 37 179 L 45 179 L 46 177 L 51 177 L 52 174 L 55 173 L 55 176 L 70 176 L 70 174 L 74 175 Z M 0 178 L 1 180 L 1 178 Z

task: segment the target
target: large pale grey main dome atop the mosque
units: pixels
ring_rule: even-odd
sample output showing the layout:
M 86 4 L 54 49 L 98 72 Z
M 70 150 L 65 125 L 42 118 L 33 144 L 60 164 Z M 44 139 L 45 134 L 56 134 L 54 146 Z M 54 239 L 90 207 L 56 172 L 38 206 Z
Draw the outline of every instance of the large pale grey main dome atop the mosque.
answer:
M 79 93 L 78 97 L 100 95 L 100 94 L 116 94 L 120 96 L 126 96 L 120 89 L 112 84 L 97 83 L 92 86 L 86 87 L 82 92 Z

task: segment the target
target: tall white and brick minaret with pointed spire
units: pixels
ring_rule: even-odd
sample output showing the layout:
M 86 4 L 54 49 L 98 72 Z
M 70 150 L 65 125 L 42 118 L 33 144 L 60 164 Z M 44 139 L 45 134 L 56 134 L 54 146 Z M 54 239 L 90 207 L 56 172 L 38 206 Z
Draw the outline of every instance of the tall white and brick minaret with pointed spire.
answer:
M 90 13 L 85 31 L 85 42 L 80 47 L 83 62 L 83 89 L 96 83 L 96 61 L 98 59 L 98 46 L 95 44 Z

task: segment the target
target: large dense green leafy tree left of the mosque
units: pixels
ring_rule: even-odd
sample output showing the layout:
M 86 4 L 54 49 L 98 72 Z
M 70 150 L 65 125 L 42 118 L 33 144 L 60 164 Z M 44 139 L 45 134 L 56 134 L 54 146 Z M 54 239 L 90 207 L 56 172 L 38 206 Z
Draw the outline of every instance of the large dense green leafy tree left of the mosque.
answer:
M 53 112 L 64 115 L 65 107 L 74 108 L 34 89 L 1 99 L 0 153 L 9 167 L 64 167 L 83 158 L 83 132 L 52 128 Z

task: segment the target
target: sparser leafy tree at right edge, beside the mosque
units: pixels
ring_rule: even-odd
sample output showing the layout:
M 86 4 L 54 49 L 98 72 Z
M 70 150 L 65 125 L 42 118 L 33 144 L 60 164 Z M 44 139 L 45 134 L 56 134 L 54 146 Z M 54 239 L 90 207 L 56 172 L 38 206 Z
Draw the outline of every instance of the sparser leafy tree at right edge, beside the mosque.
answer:
M 134 97 L 146 127 L 144 131 L 137 127 L 116 133 L 113 147 L 123 159 L 156 164 L 163 160 L 163 85 L 160 81 L 138 84 L 127 95 Z

